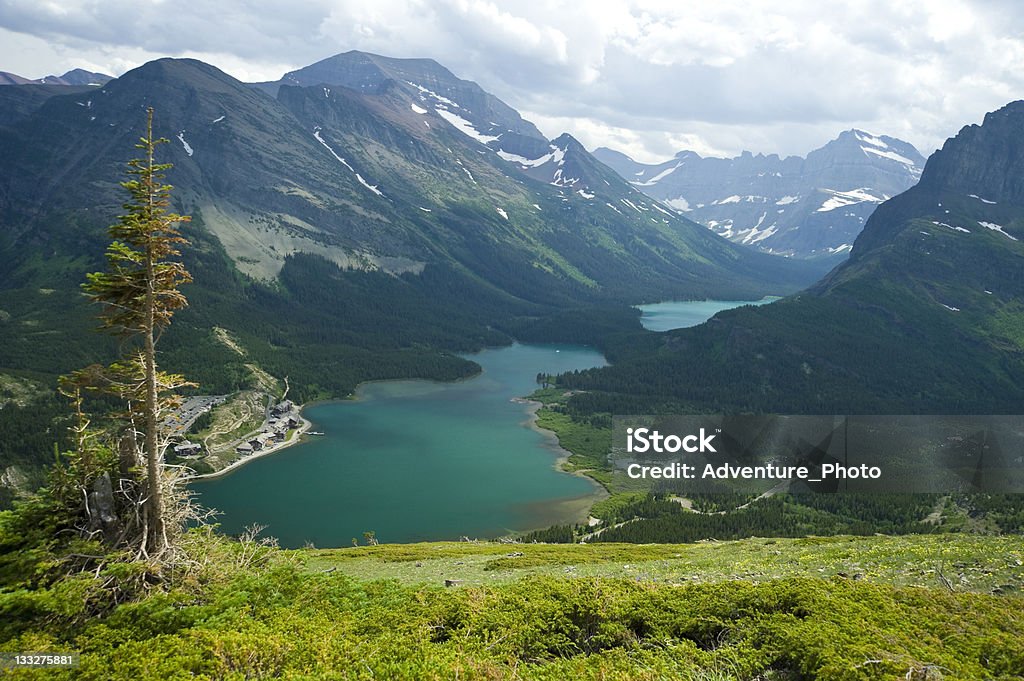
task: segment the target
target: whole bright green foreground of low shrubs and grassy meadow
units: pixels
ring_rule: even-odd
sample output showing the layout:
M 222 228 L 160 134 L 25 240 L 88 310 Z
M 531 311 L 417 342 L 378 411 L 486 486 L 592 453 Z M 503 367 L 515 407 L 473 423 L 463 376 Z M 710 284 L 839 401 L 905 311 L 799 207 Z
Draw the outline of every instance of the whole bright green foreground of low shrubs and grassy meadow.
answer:
M 38 509 L 35 511 L 38 512 Z M 46 679 L 1015 679 L 1017 538 L 282 551 L 209 530 L 157 588 L 0 514 L 0 651 Z M 27 540 L 26 537 L 29 537 Z M 35 540 L 33 539 L 35 538 Z M 443 579 L 455 581 L 445 588 Z

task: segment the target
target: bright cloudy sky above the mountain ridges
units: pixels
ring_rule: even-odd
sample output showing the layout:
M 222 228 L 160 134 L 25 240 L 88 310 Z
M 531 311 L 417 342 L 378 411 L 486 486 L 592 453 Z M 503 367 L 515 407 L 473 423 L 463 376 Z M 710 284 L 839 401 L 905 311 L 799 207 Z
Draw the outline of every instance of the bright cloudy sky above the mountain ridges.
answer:
M 190 56 L 247 81 L 432 57 L 545 134 L 655 161 L 804 155 L 859 127 L 926 156 L 1024 98 L 1019 0 L 0 0 L 0 71 Z

